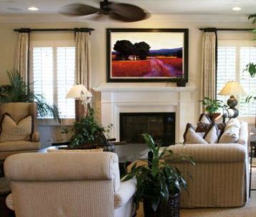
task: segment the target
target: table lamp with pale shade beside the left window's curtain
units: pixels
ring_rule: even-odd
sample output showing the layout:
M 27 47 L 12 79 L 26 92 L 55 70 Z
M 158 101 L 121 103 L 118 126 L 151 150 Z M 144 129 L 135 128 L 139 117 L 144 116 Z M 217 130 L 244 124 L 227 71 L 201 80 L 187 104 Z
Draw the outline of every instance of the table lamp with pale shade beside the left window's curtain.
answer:
M 67 92 L 66 98 L 75 98 L 75 121 L 79 121 L 85 115 L 85 104 L 90 103 L 92 94 L 82 84 L 72 86 Z

